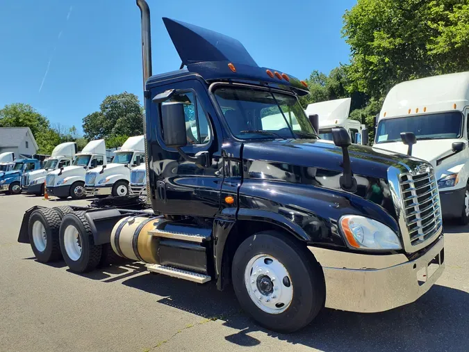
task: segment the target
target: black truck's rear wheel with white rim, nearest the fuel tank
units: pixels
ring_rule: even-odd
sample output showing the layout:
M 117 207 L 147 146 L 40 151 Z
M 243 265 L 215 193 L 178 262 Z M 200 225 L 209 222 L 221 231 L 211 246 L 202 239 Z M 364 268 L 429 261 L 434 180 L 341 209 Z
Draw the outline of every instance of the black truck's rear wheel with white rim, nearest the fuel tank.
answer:
M 85 273 L 98 266 L 102 249 L 94 245 L 85 211 L 74 211 L 63 217 L 59 239 L 63 259 L 71 271 Z

